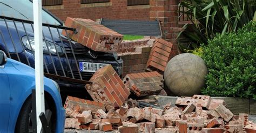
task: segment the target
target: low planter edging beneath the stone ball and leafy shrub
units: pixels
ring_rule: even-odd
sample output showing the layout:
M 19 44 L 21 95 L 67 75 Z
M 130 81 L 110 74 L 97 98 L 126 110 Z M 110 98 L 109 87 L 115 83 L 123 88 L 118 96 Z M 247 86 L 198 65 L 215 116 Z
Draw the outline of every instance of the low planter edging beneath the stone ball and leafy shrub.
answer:
M 179 97 L 150 95 L 146 97 L 148 99 L 157 99 L 160 106 L 171 102 L 171 106 L 176 106 L 175 102 Z M 233 114 L 247 113 L 256 114 L 256 100 L 246 98 L 232 98 L 232 97 L 211 97 L 212 99 L 223 99 L 226 104 L 226 108 L 230 109 Z M 238 106 L 239 105 L 239 106 Z

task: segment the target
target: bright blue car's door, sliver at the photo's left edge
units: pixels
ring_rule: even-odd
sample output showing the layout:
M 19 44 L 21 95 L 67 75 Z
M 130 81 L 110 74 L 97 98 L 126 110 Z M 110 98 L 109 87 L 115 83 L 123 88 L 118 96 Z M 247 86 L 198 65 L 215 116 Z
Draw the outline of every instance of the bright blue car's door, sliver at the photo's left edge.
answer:
M 4 65 L 0 65 L 0 132 L 8 132 L 10 113 L 10 85 Z

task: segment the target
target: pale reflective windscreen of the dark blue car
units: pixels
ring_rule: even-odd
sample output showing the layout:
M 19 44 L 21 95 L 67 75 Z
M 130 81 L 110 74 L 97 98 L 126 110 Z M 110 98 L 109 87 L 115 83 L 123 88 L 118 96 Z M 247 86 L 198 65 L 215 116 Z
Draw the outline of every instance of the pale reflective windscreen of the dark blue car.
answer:
M 0 0 L 0 15 L 33 21 L 33 3 L 29 0 Z M 44 10 L 42 10 L 42 21 L 45 24 L 61 25 Z

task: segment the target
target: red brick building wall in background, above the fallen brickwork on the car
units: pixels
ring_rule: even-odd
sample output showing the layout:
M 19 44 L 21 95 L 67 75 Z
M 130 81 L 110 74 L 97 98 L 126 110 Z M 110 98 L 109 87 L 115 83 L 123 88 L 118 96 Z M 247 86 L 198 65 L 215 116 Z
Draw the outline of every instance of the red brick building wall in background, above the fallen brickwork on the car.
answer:
M 61 20 L 66 17 L 86 19 L 149 20 L 150 5 L 127 6 L 127 0 L 110 0 L 106 3 L 81 4 L 80 0 L 63 0 L 62 5 L 44 6 Z

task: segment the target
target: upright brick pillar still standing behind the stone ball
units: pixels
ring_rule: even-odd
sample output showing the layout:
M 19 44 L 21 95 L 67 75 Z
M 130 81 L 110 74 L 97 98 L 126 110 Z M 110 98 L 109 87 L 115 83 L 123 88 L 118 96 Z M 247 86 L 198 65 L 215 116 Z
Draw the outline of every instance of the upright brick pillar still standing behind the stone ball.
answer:
M 172 58 L 180 54 L 177 35 L 181 28 L 178 25 L 178 0 L 150 0 L 150 20 L 160 21 L 163 39 L 173 43 Z

